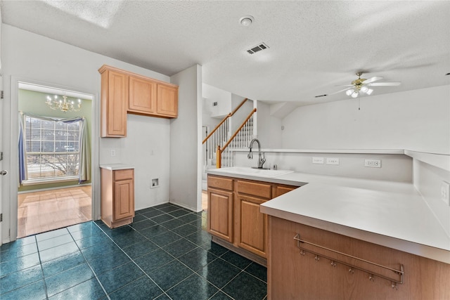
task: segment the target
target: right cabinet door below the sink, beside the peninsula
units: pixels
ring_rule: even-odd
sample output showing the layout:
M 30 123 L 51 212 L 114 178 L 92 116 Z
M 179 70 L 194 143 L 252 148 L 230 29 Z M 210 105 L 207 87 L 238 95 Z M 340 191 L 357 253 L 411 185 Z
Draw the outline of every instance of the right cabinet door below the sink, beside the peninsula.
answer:
M 259 256 L 266 257 L 267 216 L 259 212 L 259 205 L 266 202 L 256 197 L 236 194 L 235 243 Z

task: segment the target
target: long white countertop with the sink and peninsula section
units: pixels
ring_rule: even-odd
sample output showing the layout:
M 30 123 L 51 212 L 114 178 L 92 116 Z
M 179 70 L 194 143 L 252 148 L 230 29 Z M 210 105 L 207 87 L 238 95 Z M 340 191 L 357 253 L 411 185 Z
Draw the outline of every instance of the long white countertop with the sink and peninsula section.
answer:
M 223 169 L 208 174 L 302 186 L 262 204 L 261 211 L 450 263 L 450 237 L 411 183 L 298 172 L 274 178 Z

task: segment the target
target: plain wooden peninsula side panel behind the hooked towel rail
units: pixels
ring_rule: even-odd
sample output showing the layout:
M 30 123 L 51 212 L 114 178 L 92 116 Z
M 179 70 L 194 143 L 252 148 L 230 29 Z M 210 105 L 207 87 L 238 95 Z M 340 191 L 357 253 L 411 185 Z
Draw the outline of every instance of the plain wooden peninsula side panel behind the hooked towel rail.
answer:
M 328 249 L 300 243 L 306 249 L 301 252 L 294 240 L 297 233 L 304 241 L 394 270 L 399 270 L 402 265 L 403 283 L 392 287 L 392 281 L 370 272 L 394 280 L 400 278 L 398 273 Z M 274 216 L 269 216 L 269 241 L 269 300 L 450 299 L 450 264 L 447 263 Z M 349 268 L 342 261 L 364 270 Z

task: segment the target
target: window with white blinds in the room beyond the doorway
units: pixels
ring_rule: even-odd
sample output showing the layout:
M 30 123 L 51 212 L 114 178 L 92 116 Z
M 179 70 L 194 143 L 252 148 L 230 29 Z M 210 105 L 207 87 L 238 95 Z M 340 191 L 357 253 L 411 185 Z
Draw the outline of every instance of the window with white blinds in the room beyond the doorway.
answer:
M 76 179 L 82 121 L 60 122 L 25 116 L 27 181 Z

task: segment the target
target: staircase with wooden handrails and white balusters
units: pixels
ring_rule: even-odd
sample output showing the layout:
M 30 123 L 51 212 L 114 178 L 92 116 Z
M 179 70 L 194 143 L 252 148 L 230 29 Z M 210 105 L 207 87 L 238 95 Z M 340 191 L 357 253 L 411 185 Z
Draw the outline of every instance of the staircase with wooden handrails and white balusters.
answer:
M 250 112 L 250 115 L 243 120 L 231 120 L 233 115 L 247 101 L 243 100 L 233 112 L 226 117 L 211 131 L 203 140 L 203 174 L 208 169 L 221 167 L 233 167 L 233 150 L 248 148 L 250 141 L 255 137 L 254 134 L 254 113 L 256 108 Z M 231 123 L 241 123 L 238 129 L 232 133 Z M 219 149 L 219 150 L 218 150 Z M 205 179 L 205 178 L 204 178 Z

